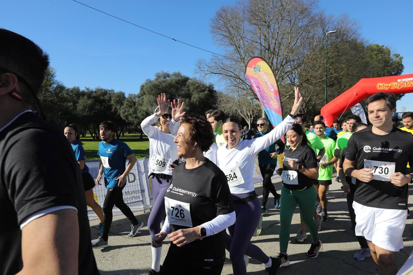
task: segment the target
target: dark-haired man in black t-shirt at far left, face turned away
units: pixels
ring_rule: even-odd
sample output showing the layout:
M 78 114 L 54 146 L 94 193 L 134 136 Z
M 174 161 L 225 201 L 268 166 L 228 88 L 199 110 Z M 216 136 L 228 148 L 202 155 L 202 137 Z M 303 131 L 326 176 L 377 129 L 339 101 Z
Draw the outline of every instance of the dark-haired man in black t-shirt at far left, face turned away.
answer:
M 73 150 L 30 110 L 48 65 L 0 28 L 0 274 L 99 274 Z

